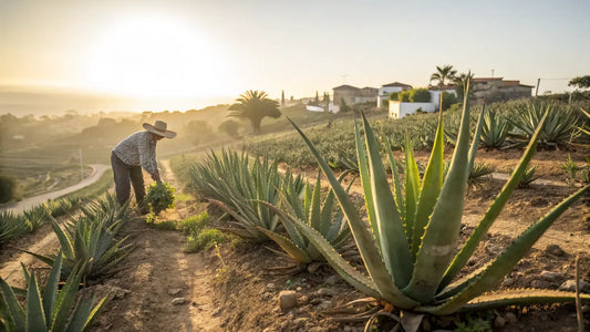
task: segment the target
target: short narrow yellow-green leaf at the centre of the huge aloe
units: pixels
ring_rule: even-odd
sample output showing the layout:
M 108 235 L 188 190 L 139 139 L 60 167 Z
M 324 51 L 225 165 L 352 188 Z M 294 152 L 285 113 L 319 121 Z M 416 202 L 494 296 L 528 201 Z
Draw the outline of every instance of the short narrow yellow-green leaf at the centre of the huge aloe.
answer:
M 405 143 L 405 169 L 404 169 L 404 189 L 405 189 L 405 215 L 404 228 L 407 242 L 412 243 L 414 220 L 416 219 L 416 208 L 420 197 L 420 173 L 418 165 L 414 158 L 414 147 L 412 141 L 406 138 Z M 429 214 L 428 214 L 429 215 Z M 417 248 L 416 250 L 417 251 Z M 415 256 L 415 253 L 413 253 Z

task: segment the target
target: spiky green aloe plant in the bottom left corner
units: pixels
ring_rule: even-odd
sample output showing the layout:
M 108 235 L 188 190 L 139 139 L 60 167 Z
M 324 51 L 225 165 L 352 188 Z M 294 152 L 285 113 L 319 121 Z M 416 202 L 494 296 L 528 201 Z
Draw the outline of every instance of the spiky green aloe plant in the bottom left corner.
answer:
M 58 290 L 62 270 L 61 255 L 51 267 L 48 282 L 41 289 L 34 274 L 22 266 L 28 283 L 24 305 L 15 291 L 0 278 L 0 330 L 2 331 L 89 331 L 94 319 L 106 303 L 106 298 L 76 300 L 82 269 L 71 273 Z M 42 293 L 42 295 L 41 295 Z

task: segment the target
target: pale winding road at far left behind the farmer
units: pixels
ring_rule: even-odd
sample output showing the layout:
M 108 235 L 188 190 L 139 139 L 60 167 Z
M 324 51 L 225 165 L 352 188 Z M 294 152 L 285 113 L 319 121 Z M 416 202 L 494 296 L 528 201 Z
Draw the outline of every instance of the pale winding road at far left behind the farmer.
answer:
M 80 181 L 79 184 L 68 187 L 68 188 L 63 188 L 61 190 L 51 191 L 51 193 L 46 193 L 43 195 L 34 196 L 34 197 L 29 197 L 21 201 L 15 201 L 15 203 L 4 205 L 0 207 L 0 211 L 9 210 L 9 211 L 12 211 L 13 214 L 22 214 L 22 211 L 33 208 L 49 199 L 55 199 L 58 197 L 61 197 L 63 195 L 70 194 L 72 191 L 82 189 L 86 186 L 94 184 L 99 178 L 101 178 L 101 176 L 104 174 L 106 169 L 111 168 L 111 166 L 103 165 L 103 164 L 92 164 L 89 166 L 92 167 L 92 174 L 85 179 L 83 179 L 82 181 Z

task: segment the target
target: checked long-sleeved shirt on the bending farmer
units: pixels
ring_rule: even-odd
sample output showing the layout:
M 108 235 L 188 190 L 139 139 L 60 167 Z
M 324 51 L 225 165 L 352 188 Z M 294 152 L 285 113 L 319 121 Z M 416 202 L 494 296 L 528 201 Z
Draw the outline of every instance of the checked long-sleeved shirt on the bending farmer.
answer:
M 131 134 L 114 148 L 115 155 L 130 166 L 142 166 L 149 174 L 157 174 L 156 141 L 144 131 Z

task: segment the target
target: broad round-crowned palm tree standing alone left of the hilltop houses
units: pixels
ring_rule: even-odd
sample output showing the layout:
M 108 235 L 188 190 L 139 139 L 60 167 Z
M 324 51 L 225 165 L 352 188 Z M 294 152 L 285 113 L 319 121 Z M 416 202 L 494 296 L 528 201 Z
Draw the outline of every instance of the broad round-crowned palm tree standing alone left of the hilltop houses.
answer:
M 265 116 L 279 117 L 279 103 L 268 98 L 266 92 L 248 90 L 236 100 L 238 103 L 229 106 L 227 116 L 247 118 L 255 135 L 260 134 L 260 123 Z

